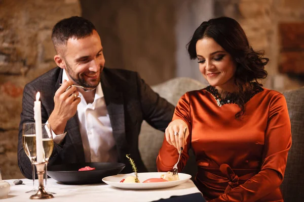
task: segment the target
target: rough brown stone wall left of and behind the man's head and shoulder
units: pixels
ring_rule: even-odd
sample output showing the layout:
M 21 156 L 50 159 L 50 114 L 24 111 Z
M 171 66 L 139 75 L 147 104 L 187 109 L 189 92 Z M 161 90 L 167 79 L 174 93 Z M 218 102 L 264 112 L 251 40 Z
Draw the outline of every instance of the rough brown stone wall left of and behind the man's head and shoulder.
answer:
M 0 168 L 3 179 L 24 178 L 17 164 L 22 92 L 26 83 L 55 67 L 51 31 L 81 15 L 77 0 L 0 1 Z

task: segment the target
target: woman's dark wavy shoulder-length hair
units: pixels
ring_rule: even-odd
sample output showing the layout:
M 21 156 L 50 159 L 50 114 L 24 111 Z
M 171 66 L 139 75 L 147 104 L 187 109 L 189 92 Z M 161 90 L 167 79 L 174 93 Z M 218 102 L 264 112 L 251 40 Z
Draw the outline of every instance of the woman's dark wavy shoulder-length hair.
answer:
M 197 58 L 196 43 L 202 38 L 213 38 L 237 64 L 234 83 L 238 90 L 233 94 L 236 104 L 241 109 L 236 114 L 236 118 L 239 118 L 245 113 L 246 97 L 253 87 L 251 82 L 258 83 L 257 79 L 267 77 L 264 66 L 267 65 L 269 59 L 263 58 L 263 52 L 255 52 L 252 49 L 240 24 L 229 17 L 205 21 L 195 30 L 191 41 L 187 44 L 190 59 Z M 262 84 L 258 84 L 262 86 Z

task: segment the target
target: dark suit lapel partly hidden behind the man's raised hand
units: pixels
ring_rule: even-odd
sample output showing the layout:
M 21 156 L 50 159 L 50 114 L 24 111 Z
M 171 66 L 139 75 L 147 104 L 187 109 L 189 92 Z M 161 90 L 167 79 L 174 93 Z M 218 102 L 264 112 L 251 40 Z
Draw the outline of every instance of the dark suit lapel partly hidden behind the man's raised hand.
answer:
M 62 73 L 63 70 L 61 69 L 57 82 L 55 84 L 56 90 L 58 90 L 58 88 L 60 87 L 60 83 L 62 82 Z M 76 112 L 76 114 L 67 121 L 65 129 L 69 139 L 71 140 L 70 143 L 72 143 L 75 148 L 75 153 L 77 155 L 78 161 L 85 162 L 84 146 L 79 130 L 78 112 Z

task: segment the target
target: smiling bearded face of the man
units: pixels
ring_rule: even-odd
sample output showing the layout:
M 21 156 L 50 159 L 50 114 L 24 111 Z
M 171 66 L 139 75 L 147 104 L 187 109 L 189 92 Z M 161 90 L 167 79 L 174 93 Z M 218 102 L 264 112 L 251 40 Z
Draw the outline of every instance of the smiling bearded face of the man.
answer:
M 70 80 L 83 87 L 95 88 L 105 63 L 97 31 L 93 30 L 93 34 L 85 38 L 69 38 L 63 60 Z

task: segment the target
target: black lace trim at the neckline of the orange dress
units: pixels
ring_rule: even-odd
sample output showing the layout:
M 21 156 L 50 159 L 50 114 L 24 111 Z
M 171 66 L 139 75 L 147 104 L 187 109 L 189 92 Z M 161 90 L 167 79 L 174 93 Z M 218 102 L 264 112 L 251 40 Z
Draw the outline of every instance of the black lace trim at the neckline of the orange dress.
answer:
M 264 89 L 256 82 L 252 82 L 253 87 L 252 90 L 250 92 L 248 92 L 245 98 L 245 104 L 257 93 L 262 92 Z M 205 88 L 208 92 L 210 92 L 212 94 L 212 96 L 215 98 L 217 106 L 221 107 L 225 104 L 235 104 L 235 98 L 234 95 L 232 93 L 228 93 L 226 97 L 222 98 L 220 96 L 220 94 L 218 93 L 218 90 L 209 85 Z

